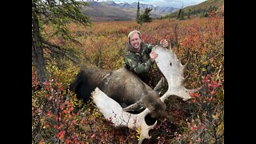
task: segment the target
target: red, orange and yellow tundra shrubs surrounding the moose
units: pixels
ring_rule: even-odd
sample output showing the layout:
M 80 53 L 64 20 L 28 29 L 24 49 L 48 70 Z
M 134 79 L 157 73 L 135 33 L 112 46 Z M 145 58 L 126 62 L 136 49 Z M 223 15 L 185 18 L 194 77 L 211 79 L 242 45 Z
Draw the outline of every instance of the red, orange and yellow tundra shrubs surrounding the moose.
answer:
M 117 70 L 124 66 L 127 34 L 140 30 L 142 39 L 152 45 L 166 38 L 174 53 L 184 62 L 191 56 L 185 72 L 185 86 L 201 87 L 191 94 L 194 99 L 166 99 L 167 118 L 158 119 L 150 130 L 152 143 L 223 143 L 224 142 L 224 21 L 223 12 L 210 13 L 208 18 L 158 19 L 139 25 L 137 22 L 94 22 L 85 29 L 73 23 L 67 27 L 79 45 L 61 37 L 51 42 L 73 47 L 80 65 L 67 58 L 56 61 L 46 58 L 50 77 L 38 86 L 38 74 L 32 67 L 32 143 L 134 143 L 140 130 L 115 128 L 95 108 L 93 102 L 83 103 L 68 90 L 81 66 Z M 52 35 L 50 26 L 46 32 Z M 162 77 L 157 66 L 150 71 L 154 77 L 147 83 L 154 87 Z

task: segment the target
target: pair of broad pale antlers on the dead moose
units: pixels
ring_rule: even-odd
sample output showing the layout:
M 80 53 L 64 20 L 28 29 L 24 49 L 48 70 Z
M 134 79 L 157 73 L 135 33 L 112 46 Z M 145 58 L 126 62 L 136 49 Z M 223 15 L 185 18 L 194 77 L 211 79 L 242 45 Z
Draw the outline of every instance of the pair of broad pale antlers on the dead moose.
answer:
M 183 77 L 188 62 L 182 65 L 181 61 L 178 60 L 171 49 L 167 50 L 162 48 L 162 46 L 154 46 L 153 51 L 158 53 L 158 58 L 155 59 L 156 64 L 168 82 L 168 90 L 160 98 L 162 102 L 170 95 L 178 96 L 184 101 L 190 99 L 190 92 L 194 92 L 195 90 L 187 90 L 185 88 L 184 82 L 188 77 Z M 106 119 L 111 120 L 114 126 L 127 126 L 130 129 L 139 129 L 141 134 L 138 143 L 142 143 L 145 138 L 150 138 L 149 131 L 156 126 L 157 121 L 152 126 L 146 124 L 145 117 L 150 113 L 148 108 L 140 114 L 130 114 L 124 111 L 118 102 L 109 98 L 98 88 L 94 90 L 92 99 L 98 110 L 100 110 Z

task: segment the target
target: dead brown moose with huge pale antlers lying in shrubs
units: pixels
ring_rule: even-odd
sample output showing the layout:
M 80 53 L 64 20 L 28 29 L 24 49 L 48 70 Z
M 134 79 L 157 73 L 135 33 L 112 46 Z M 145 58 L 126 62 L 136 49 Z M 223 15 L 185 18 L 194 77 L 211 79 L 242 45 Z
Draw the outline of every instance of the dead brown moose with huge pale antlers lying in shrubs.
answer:
M 188 90 L 184 86 L 188 76 L 184 78 L 183 74 L 190 58 L 182 65 L 171 47 L 168 50 L 156 45 L 152 50 L 158 53 L 155 61 L 168 83 L 168 90 L 161 97 L 156 90 L 157 86 L 153 90 L 125 67 L 118 70 L 84 68 L 70 84 L 70 90 L 73 90 L 78 98 L 85 101 L 92 98 L 98 110 L 113 122 L 114 126 L 139 128 L 141 135 L 138 143 L 150 138 L 149 130 L 157 124 L 155 121 L 153 125 L 148 125 L 145 121 L 147 115 L 161 118 L 166 110 L 166 98 L 173 95 L 186 101 L 191 98 L 190 93 L 197 90 Z M 161 85 L 162 82 L 163 78 L 158 84 Z M 139 112 L 134 114 L 131 111 Z

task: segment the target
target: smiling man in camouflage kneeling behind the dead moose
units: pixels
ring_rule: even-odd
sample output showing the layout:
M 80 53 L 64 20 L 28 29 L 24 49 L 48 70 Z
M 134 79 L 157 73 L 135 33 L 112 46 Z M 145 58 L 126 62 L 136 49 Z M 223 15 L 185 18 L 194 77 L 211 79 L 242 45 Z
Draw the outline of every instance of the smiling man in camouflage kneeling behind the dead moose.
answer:
M 160 45 L 167 48 L 169 43 L 166 39 L 162 39 Z M 153 46 L 150 44 L 142 42 L 141 33 L 138 30 L 133 30 L 128 34 L 125 55 L 126 68 L 134 71 L 143 82 L 146 82 L 147 72 L 154 64 L 154 59 L 158 57 L 157 53 L 151 51 L 152 48 Z

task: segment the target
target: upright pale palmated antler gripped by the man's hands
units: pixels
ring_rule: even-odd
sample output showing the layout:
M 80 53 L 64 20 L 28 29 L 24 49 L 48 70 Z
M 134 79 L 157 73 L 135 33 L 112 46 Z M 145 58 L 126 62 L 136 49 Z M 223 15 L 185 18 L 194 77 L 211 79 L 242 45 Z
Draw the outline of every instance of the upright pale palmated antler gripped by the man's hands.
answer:
M 168 90 L 166 94 L 162 95 L 161 100 L 164 102 L 170 95 L 176 95 L 184 101 L 190 99 L 190 92 L 196 91 L 196 89 L 188 90 L 184 86 L 184 82 L 188 78 L 188 76 L 184 78 L 184 72 L 190 58 L 185 65 L 182 65 L 182 62 L 178 60 L 171 48 L 165 49 L 162 46 L 154 46 L 153 51 L 158 54 L 158 58 L 155 58 L 155 61 L 168 83 Z

